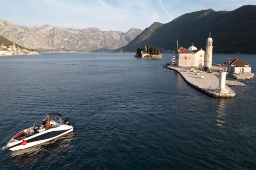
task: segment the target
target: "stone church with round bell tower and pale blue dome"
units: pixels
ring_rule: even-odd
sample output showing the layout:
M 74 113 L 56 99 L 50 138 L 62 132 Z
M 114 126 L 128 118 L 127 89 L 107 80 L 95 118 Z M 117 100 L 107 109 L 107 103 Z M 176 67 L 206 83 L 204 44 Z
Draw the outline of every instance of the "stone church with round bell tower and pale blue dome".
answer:
M 212 67 L 212 38 L 211 32 L 206 40 L 205 51 L 197 49 L 194 44 L 188 49 L 179 48 L 175 54 L 175 64 L 179 67 Z

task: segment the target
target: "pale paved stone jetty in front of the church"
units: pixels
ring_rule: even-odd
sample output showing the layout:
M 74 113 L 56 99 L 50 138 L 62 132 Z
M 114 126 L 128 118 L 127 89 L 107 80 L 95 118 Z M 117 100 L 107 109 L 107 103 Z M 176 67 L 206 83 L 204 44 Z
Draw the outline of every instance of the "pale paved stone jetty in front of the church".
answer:
M 167 68 L 178 72 L 189 86 L 202 91 L 206 95 L 218 98 L 232 98 L 236 96 L 235 92 L 228 86 L 225 87 L 229 90 L 228 93 L 223 94 L 218 92 L 216 89 L 219 87 L 219 79 L 212 73 L 173 65 L 169 65 Z

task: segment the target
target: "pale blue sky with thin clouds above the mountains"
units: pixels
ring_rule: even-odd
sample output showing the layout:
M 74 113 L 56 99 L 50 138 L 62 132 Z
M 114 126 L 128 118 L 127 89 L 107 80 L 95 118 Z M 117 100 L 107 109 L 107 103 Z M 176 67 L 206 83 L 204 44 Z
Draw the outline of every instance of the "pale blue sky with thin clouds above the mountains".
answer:
M 97 27 L 102 31 L 146 29 L 167 23 L 185 13 L 207 10 L 233 11 L 255 0 L 0 0 L 0 19 L 26 27 L 43 24 L 61 28 Z

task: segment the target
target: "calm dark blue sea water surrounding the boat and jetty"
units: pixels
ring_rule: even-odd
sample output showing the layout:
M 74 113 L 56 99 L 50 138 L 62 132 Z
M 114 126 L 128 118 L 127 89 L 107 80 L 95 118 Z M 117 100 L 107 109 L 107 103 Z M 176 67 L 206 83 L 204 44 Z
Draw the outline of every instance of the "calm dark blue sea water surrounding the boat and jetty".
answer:
M 74 132 L 21 151 L 1 169 L 255 169 L 256 81 L 233 99 L 208 97 L 163 60 L 132 53 L 0 57 L 0 144 L 50 112 Z M 239 58 L 256 73 L 256 55 Z

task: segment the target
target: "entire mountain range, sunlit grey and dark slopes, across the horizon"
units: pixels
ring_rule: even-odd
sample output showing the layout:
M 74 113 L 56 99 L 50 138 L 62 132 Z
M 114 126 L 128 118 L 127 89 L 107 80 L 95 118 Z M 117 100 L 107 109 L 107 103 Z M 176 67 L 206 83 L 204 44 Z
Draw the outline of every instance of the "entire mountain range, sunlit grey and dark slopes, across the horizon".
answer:
M 213 53 L 256 53 L 256 6 L 245 5 L 234 11 L 201 10 L 179 16 L 169 23 L 155 22 L 144 31 L 101 31 L 98 28 L 60 28 L 52 25 L 25 27 L 0 20 L 0 36 L 20 46 L 47 51 L 135 52 L 145 45 L 162 50 L 185 48 L 192 44 L 205 49 L 213 38 Z

